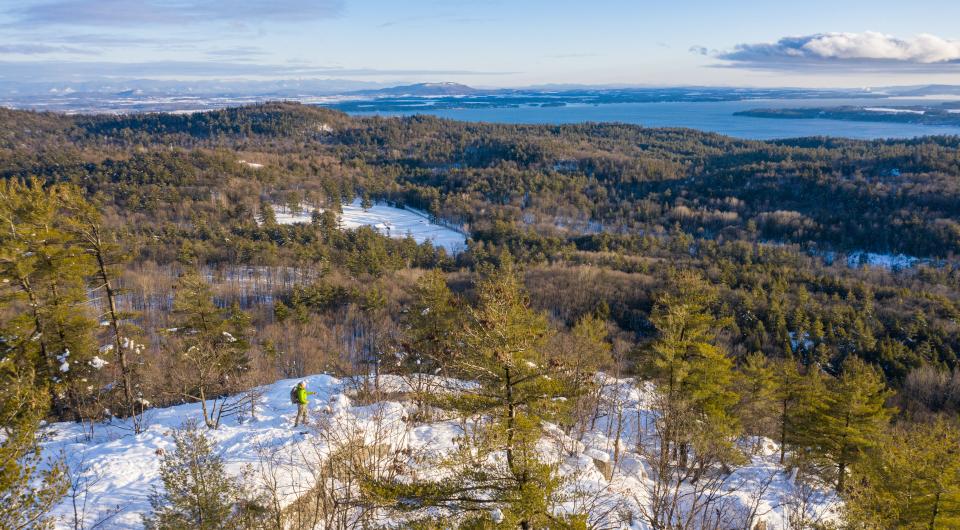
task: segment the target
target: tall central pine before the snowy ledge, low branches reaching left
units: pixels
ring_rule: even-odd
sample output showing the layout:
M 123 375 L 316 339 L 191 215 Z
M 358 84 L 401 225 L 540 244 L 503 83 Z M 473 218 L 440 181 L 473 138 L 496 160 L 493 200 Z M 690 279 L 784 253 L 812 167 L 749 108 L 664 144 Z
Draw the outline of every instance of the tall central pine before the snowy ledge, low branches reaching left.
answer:
M 454 478 L 368 484 L 371 495 L 402 499 L 398 506 L 405 509 L 444 506 L 485 514 L 492 501 L 505 528 L 572 524 L 552 514 L 561 479 L 555 465 L 541 461 L 537 444 L 545 421 L 561 421 L 569 414 L 577 389 L 568 370 L 545 363 L 541 346 L 549 333 L 546 318 L 530 309 L 509 259 L 478 283 L 476 305 L 467 308 L 465 320 L 450 363 L 453 373 L 477 386 L 441 397 L 436 404 L 465 420 L 484 421 L 470 420 L 474 427 L 447 459 Z M 491 522 L 486 515 L 482 521 Z

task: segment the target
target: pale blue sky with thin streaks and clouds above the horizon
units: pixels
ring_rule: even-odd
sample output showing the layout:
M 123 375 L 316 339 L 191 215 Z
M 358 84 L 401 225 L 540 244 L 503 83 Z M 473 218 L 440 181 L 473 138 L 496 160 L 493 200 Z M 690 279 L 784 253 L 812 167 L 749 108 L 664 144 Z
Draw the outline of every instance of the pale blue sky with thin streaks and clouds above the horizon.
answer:
M 960 84 L 956 0 L 0 0 L 0 80 Z

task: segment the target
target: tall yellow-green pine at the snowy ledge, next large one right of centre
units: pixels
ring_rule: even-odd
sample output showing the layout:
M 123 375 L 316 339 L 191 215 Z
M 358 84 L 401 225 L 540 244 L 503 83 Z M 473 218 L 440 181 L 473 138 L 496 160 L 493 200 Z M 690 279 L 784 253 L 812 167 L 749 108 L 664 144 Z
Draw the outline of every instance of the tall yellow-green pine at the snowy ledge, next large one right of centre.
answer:
M 650 314 L 657 336 L 642 368 L 655 383 L 650 410 L 658 443 L 638 449 L 651 467 L 640 510 L 652 528 L 693 527 L 723 482 L 719 470 L 743 459 L 735 443 L 739 396 L 733 362 L 715 344 L 724 324 L 712 313 L 715 302 L 710 284 L 681 272 Z

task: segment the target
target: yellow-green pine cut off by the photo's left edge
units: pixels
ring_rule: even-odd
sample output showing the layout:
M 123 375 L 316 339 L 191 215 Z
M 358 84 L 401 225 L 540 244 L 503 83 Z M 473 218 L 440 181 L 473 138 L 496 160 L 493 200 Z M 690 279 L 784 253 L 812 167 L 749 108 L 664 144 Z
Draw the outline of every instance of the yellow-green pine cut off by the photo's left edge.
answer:
M 0 303 L 30 323 L 23 331 L 38 345 L 33 369 L 51 383 L 43 387 L 55 413 L 79 420 L 96 324 L 87 314 L 85 285 L 92 261 L 64 227 L 68 193 L 38 180 L 0 181 Z

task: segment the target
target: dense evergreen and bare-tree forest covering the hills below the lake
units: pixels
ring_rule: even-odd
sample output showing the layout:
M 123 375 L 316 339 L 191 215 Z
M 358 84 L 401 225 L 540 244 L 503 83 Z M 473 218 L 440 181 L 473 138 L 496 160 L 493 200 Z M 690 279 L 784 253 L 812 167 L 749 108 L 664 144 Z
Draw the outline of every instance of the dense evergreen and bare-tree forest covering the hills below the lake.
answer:
M 369 480 L 365 502 L 589 527 L 549 516 L 555 477 L 531 448 L 542 422 L 596 421 L 603 372 L 656 385 L 667 489 L 769 438 L 797 481 L 840 495 L 843 527 L 960 524 L 958 137 L 0 109 L 0 176 L 2 528 L 39 524 L 64 492 L 64 470 L 38 467 L 41 420 L 139 425 L 200 402 L 216 429 L 245 406 L 227 396 L 280 378 L 428 370 L 484 390 L 416 400 L 494 418 L 478 437 L 505 448 L 502 475 L 451 465 L 502 520 L 445 482 Z M 341 230 L 355 198 L 426 211 L 468 247 Z M 278 224 L 278 208 L 322 213 Z M 845 259 L 864 252 L 917 261 Z M 191 527 L 157 502 L 148 527 Z M 651 528 L 722 527 L 664 506 Z

